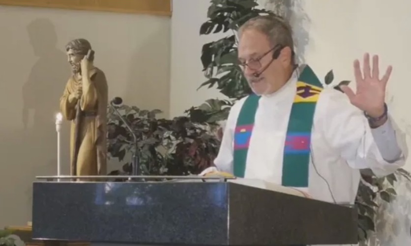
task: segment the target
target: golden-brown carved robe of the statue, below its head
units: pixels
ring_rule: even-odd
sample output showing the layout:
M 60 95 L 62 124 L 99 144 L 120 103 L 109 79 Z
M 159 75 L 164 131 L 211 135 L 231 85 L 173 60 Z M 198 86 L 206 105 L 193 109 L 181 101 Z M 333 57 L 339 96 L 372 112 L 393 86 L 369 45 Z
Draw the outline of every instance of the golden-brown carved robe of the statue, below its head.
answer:
M 83 88 L 80 102 L 68 100 L 82 83 L 75 75 L 68 79 L 60 98 L 61 113 L 71 121 L 70 169 L 71 175 L 77 176 L 107 173 L 108 85 L 103 71 L 96 67 L 89 72 L 89 78 L 90 86 L 87 91 Z

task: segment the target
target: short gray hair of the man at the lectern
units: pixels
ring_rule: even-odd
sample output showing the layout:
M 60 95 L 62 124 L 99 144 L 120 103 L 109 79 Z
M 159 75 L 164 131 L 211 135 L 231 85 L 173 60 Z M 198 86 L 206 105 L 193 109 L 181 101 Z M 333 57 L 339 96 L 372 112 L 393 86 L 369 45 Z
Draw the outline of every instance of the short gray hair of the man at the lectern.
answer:
M 294 54 L 293 31 L 291 26 L 278 15 L 264 15 L 251 18 L 238 30 L 239 36 L 247 29 L 255 29 L 264 33 L 272 46 L 290 47 Z

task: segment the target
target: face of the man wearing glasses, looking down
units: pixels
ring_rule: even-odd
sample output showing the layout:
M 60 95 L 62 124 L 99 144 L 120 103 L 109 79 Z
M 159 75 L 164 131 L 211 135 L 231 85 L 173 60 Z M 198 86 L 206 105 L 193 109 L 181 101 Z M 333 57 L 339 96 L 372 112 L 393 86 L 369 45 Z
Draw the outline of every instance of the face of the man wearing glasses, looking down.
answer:
M 244 76 L 257 95 L 271 94 L 276 88 L 275 75 L 281 69 L 281 64 L 277 60 L 271 62 L 273 51 L 270 50 L 273 48 L 267 36 L 255 29 L 244 30 L 239 39 L 238 60 L 247 64 L 243 67 Z M 254 73 L 260 73 L 267 65 L 258 78 L 254 76 Z

